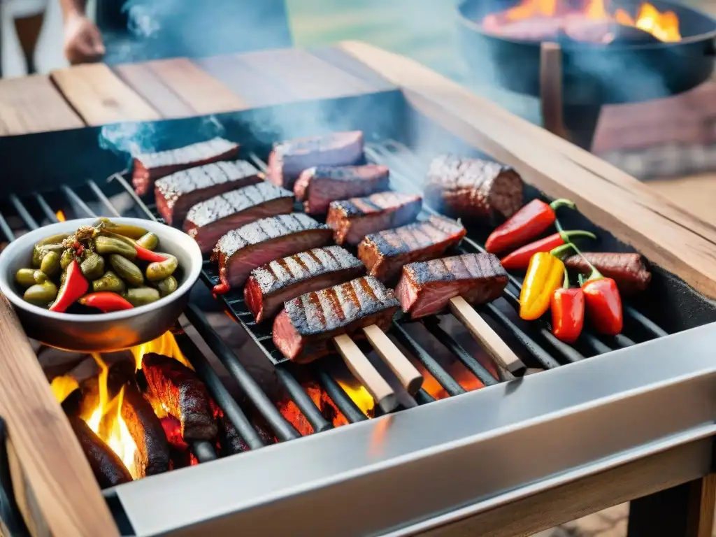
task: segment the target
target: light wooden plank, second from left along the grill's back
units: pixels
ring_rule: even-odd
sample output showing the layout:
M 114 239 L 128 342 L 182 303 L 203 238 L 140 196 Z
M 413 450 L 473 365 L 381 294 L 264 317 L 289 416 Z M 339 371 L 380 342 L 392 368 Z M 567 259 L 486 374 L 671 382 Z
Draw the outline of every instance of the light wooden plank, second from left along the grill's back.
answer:
M 53 71 L 52 79 L 87 125 L 152 121 L 161 116 L 105 64 Z

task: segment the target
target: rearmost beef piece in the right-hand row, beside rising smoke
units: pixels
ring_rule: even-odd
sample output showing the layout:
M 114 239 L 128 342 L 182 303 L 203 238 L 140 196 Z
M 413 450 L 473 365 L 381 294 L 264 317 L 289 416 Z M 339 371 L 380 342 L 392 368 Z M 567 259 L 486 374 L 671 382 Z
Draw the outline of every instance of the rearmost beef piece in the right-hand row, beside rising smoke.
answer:
M 266 177 L 274 185 L 293 189 L 304 170 L 357 164 L 362 158 L 363 133 L 359 130 L 289 140 L 271 151 Z

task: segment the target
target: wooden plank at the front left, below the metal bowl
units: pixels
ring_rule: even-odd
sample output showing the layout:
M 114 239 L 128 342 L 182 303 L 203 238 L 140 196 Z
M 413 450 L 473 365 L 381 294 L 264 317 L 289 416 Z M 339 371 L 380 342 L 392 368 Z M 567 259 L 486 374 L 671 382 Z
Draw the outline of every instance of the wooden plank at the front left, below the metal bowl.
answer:
M 118 536 L 95 476 L 9 303 L 0 301 L 0 415 L 14 495 L 36 536 Z

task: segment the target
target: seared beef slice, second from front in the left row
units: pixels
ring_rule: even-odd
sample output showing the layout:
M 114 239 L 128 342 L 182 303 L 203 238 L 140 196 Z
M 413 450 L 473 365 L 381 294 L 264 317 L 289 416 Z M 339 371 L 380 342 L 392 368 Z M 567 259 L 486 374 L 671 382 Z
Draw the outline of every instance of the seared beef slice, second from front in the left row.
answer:
M 364 274 L 365 267 L 340 246 L 314 248 L 253 269 L 243 288 L 256 322 L 274 316 L 286 300 Z

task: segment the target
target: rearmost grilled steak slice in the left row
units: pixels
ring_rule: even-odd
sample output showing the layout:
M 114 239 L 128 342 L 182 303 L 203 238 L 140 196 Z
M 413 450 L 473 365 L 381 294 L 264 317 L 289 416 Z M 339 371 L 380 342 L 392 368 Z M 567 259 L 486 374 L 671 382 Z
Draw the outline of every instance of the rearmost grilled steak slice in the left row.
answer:
M 231 160 L 238 155 L 238 144 L 214 138 L 207 142 L 198 142 L 177 149 L 145 153 L 134 158 L 132 185 L 138 195 L 145 195 L 155 180 L 170 173 L 186 170 L 194 166 L 216 163 L 219 160 Z

